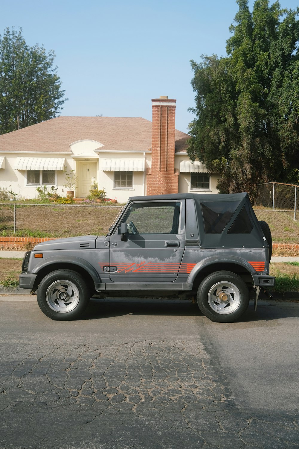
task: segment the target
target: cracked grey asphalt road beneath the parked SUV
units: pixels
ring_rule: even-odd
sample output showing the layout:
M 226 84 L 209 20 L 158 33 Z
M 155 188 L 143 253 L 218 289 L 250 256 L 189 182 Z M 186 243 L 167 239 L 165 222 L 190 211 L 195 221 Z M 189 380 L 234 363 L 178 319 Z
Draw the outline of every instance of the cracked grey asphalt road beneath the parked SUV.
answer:
M 299 447 L 298 303 L 216 324 L 182 301 L 93 300 L 62 322 L 5 299 L 1 449 Z

